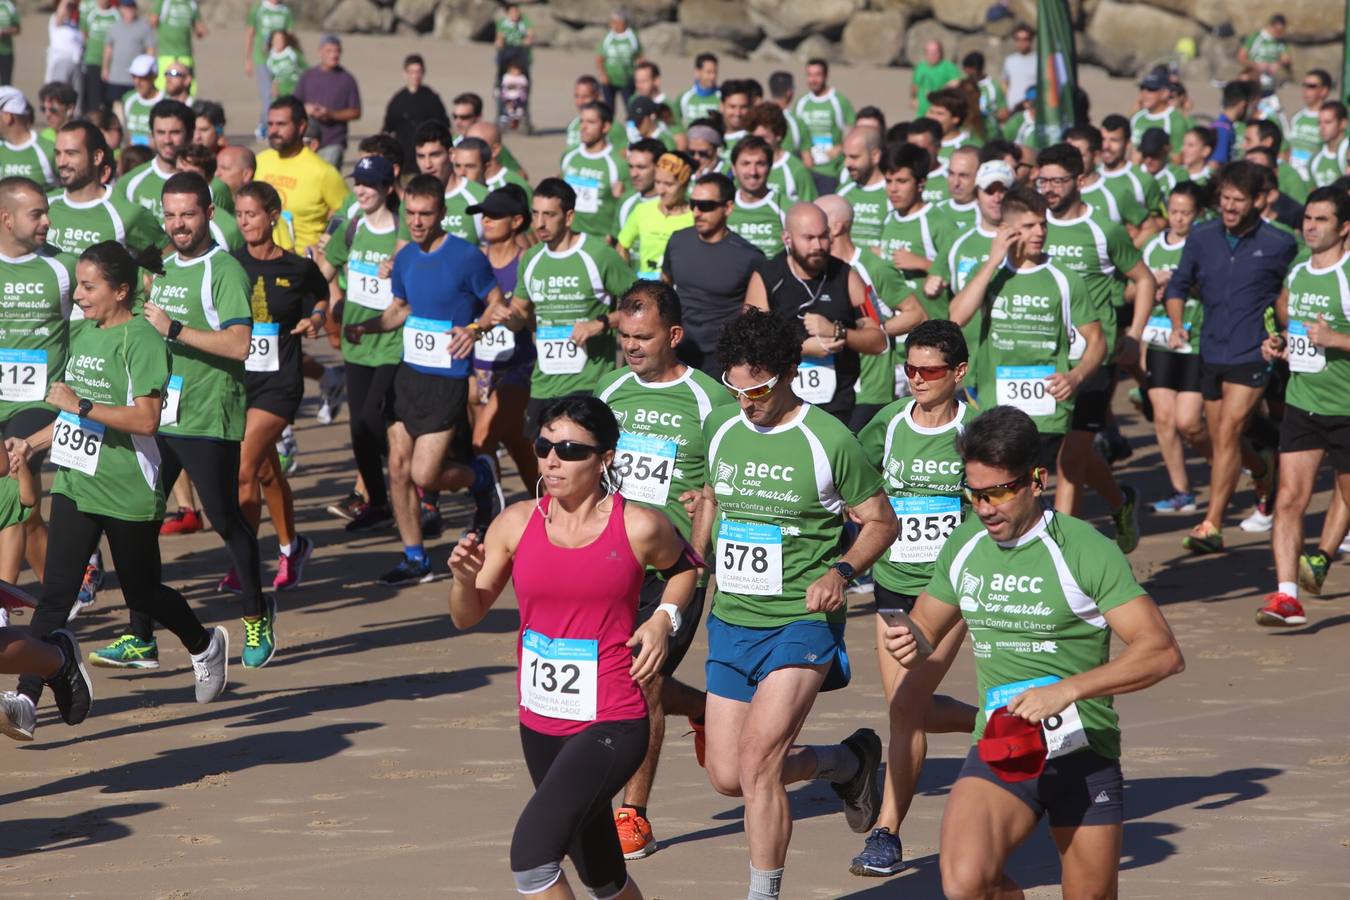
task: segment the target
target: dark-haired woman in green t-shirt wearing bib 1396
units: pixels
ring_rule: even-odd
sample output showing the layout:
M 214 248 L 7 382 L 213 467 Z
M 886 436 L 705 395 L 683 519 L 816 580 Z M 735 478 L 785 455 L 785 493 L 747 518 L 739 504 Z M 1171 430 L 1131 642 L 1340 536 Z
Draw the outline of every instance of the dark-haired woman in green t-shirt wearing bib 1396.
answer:
M 207 193 L 205 182 L 200 190 Z M 159 521 L 165 501 L 154 434 L 161 393 L 167 390 L 170 351 L 148 317 L 131 314 L 139 278 L 136 262 L 116 242 L 94 244 L 81 254 L 76 294 L 93 327 L 74 335 L 70 363 L 47 393 L 61 416 L 26 439 L 5 441 L 9 456 L 22 463 L 50 447 L 53 461 L 61 467 L 51 486 L 57 540 L 47 545 L 46 578 L 30 633 L 40 638 L 65 625 L 85 563 L 100 537 L 107 536 L 127 606 L 161 621 L 182 641 L 192 654 L 197 702 L 209 703 L 225 690 L 230 633 L 220 625 L 204 629 L 182 595 L 161 580 Z M 157 653 L 142 668 L 158 664 Z M 18 692 L 4 695 L 11 726 L 5 734 L 32 739 L 42 687 L 39 676 L 24 675 Z M 65 692 L 65 687 L 55 691 L 58 702 Z M 61 712 L 72 722 L 72 710 Z

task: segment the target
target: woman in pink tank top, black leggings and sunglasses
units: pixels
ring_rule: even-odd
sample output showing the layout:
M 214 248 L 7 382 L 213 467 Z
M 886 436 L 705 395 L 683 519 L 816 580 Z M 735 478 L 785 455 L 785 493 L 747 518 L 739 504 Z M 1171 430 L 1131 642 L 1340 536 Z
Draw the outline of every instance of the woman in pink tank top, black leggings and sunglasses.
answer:
M 617 493 L 609 406 L 563 397 L 540 422 L 543 497 L 508 506 L 482 542 L 468 534 L 455 546 L 450 614 L 471 627 L 514 582 L 520 735 L 535 783 L 512 838 L 516 889 L 574 897 L 562 870 L 570 855 L 593 896 L 639 900 L 610 801 L 647 754 L 640 684 L 660 671 L 694 594 L 695 560 L 663 513 Z M 634 631 L 647 567 L 667 576 L 671 603 Z

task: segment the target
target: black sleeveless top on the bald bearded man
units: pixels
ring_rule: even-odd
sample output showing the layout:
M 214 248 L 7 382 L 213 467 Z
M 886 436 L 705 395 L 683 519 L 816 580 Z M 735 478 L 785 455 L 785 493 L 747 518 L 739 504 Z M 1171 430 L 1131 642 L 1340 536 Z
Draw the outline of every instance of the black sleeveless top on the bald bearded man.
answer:
M 784 318 L 801 321 L 806 313 L 825 316 L 856 328 L 861 316 L 848 296 L 849 264 L 830 256 L 825 271 L 815 278 L 798 278 L 787 264 L 784 250 L 764 263 L 764 286 L 768 289 L 768 308 Z M 806 362 L 810 362 L 809 359 Z M 834 354 L 834 395 L 819 407 L 836 416 L 846 416 L 855 405 L 860 360 L 856 349 L 844 348 Z

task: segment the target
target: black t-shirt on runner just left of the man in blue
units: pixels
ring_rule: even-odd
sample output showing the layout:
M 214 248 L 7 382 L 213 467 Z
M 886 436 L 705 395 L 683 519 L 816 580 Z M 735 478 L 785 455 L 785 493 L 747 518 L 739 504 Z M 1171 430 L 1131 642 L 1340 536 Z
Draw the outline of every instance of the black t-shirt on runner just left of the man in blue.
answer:
M 248 273 L 252 293 L 248 305 L 254 317 L 254 354 L 261 358 L 266 349 L 269 325 L 277 336 L 277 371 L 244 371 L 244 385 L 255 386 L 281 379 L 288 385 L 304 381 L 300 359 L 300 337 L 292 329 L 315 312 L 315 304 L 328 298 L 328 282 L 312 259 L 282 251 L 277 259 L 255 259 L 247 247 L 235 251 L 235 259 Z M 259 328 L 262 325 L 262 328 Z M 258 364 L 256 362 L 252 364 Z

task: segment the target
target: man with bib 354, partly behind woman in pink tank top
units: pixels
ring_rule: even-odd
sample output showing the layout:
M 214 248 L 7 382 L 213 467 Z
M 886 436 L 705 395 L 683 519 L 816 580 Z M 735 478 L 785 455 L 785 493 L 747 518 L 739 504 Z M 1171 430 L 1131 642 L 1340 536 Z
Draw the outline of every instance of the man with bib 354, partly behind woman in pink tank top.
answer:
M 679 362 L 675 348 L 684 336 L 679 296 L 670 285 L 634 285 L 618 302 L 618 339 L 626 367 L 605 375 L 595 395 L 609 405 L 618 420 L 620 437 L 616 468 L 622 478 L 624 498 L 659 509 L 674 522 L 682 537 L 706 530 L 693 522 L 680 498 L 702 491 L 707 470 L 703 422 L 714 407 L 733 403 L 711 376 Z M 703 514 L 703 505 L 694 517 Z M 643 579 L 637 622 L 649 619 L 666 602 L 668 584 L 648 567 Z M 702 764 L 703 692 L 675 679 L 675 669 L 694 642 L 703 618 L 706 575 L 699 578 L 693 599 L 682 610 L 683 625 L 672 637 L 660 671 L 643 685 L 647 698 L 651 739 L 641 768 L 624 789 L 624 801 L 614 815 L 624 855 L 639 860 L 656 851 L 648 816 L 648 799 L 656 779 L 666 737 L 666 716 L 688 716 L 694 746 Z M 674 591 L 672 591 L 674 592 Z M 678 595 L 678 594 L 676 594 Z

